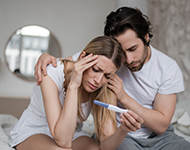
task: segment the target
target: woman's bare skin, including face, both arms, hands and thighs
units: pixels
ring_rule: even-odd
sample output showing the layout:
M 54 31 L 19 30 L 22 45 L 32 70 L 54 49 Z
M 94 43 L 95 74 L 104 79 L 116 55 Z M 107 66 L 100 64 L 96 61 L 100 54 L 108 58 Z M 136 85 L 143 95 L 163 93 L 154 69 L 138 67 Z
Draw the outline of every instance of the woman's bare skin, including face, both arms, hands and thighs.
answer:
M 136 131 L 140 128 L 143 122 L 142 118 L 134 112 L 129 111 L 129 113 L 121 114 L 121 126 L 116 132 L 114 132 L 114 127 L 108 118 L 108 128 L 105 131 L 107 138 L 101 136 L 100 145 L 95 140 L 86 136 L 72 141 L 76 127 L 77 92 L 79 86 L 82 84 L 86 94 L 94 92 L 109 81 L 109 78 L 113 76 L 117 68 L 105 56 L 93 56 L 90 54 L 85 57 L 84 52 L 80 56 L 80 61 L 74 65 L 68 65 L 68 67 L 72 67 L 72 74 L 69 77 L 70 82 L 67 87 L 63 107 L 60 104 L 59 90 L 54 81 L 48 75 L 43 75 L 42 82 L 40 83 L 47 122 L 54 139 L 43 134 L 36 134 L 17 145 L 16 149 L 115 150 L 129 131 Z M 87 99 L 84 99 L 84 102 Z M 70 113 L 71 110 L 72 113 Z M 129 125 L 127 126 L 127 124 Z

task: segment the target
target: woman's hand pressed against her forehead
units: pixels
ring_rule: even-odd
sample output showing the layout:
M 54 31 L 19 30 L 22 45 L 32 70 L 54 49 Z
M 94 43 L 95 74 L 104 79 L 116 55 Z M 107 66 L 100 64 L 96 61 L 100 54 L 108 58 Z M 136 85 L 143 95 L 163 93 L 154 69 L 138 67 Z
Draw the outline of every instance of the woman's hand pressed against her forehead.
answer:
M 98 55 L 89 54 L 88 56 L 81 58 L 73 66 L 71 80 L 69 86 L 78 88 L 82 82 L 82 75 L 85 70 L 92 67 L 98 62 Z

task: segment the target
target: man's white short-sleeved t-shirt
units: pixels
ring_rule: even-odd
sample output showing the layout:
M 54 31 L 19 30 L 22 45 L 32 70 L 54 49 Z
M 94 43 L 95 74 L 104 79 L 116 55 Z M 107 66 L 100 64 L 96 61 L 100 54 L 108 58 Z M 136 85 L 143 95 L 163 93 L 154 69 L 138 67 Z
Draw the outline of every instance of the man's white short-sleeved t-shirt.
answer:
M 184 91 L 183 75 L 176 61 L 156 50 L 152 46 L 150 60 L 140 71 L 131 72 L 122 65 L 117 75 L 123 81 L 125 92 L 143 107 L 153 109 L 153 102 L 157 93 L 172 94 Z M 79 53 L 73 56 L 78 58 Z M 119 107 L 123 107 L 118 102 Z M 120 116 L 117 114 L 118 126 Z M 136 132 L 128 134 L 134 137 L 147 138 L 152 131 L 144 126 Z

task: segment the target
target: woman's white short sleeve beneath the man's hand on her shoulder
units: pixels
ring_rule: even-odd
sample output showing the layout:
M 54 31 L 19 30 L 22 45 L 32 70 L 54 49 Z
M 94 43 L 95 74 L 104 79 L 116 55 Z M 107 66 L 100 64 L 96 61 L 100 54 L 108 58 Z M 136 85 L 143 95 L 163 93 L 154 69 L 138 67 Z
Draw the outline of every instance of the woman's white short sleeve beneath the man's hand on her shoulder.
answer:
M 64 65 L 61 61 L 57 59 L 57 67 L 54 67 L 52 64 L 47 66 L 47 75 L 55 82 L 59 91 L 63 88 L 63 82 L 65 81 L 64 78 Z

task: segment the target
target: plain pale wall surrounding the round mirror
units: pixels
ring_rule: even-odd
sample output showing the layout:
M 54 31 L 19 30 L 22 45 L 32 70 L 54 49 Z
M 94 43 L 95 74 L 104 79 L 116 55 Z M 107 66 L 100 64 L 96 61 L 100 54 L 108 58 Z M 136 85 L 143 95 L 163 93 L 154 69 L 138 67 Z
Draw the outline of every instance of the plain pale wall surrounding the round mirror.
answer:
M 50 29 L 66 57 L 103 35 L 106 16 L 115 6 L 115 0 L 0 0 L 0 97 L 30 97 L 34 85 L 5 64 L 6 43 L 18 28 L 37 24 Z

